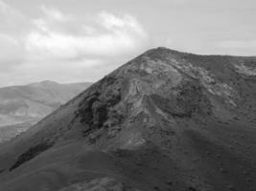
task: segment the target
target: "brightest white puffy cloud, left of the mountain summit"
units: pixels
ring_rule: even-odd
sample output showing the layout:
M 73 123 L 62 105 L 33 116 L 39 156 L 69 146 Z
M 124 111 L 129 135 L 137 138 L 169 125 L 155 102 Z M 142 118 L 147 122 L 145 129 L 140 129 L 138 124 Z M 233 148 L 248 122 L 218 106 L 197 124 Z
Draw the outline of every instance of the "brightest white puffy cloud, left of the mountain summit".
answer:
M 89 24 L 69 32 L 71 17 L 42 7 L 44 18 L 34 20 L 35 30 L 26 38 L 26 50 L 37 58 L 75 59 L 113 57 L 135 52 L 147 43 L 148 35 L 130 14 L 100 12 Z

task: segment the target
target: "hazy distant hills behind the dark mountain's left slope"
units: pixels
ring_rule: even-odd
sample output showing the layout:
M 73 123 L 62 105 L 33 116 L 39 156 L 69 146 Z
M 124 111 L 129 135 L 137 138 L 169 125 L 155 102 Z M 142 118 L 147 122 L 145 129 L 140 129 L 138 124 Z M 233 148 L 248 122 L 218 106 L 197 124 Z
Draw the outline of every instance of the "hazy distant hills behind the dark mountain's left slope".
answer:
M 90 82 L 59 84 L 46 80 L 0 88 L 0 141 L 26 130 L 90 85 Z

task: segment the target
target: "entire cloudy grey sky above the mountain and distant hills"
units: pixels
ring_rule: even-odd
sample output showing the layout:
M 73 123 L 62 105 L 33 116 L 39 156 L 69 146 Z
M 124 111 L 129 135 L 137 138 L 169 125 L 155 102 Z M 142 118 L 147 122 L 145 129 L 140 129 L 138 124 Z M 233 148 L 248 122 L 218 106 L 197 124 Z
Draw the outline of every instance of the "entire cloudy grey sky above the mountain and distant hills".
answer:
M 0 0 L 0 86 L 96 81 L 158 46 L 256 55 L 255 0 Z

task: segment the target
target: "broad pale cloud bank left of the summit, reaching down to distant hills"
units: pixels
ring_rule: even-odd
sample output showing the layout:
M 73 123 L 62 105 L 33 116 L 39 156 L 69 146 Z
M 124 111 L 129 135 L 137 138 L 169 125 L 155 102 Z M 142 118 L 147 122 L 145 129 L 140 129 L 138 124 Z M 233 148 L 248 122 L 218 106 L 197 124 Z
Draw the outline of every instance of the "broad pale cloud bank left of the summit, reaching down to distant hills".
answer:
M 38 14 L 26 16 L 0 0 L 0 86 L 97 80 L 145 49 L 149 39 L 128 13 L 80 17 L 41 6 Z

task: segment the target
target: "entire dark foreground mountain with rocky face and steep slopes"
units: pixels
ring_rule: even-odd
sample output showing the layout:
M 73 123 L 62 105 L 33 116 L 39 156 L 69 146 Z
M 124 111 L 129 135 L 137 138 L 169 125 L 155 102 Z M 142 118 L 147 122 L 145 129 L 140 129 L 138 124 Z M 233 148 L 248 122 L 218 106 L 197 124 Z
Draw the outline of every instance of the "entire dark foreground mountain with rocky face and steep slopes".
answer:
M 158 48 L 0 148 L 4 190 L 256 189 L 256 57 Z

